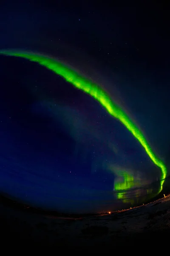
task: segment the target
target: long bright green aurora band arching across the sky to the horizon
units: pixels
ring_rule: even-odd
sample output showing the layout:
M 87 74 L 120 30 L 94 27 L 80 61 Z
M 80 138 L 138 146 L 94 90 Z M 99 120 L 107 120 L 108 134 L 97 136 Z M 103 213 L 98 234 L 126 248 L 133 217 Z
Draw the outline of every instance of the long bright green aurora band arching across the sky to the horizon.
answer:
M 97 84 L 88 81 L 88 79 L 83 78 L 74 70 L 71 70 L 69 67 L 66 67 L 64 64 L 59 63 L 58 61 L 52 58 L 37 55 L 32 52 L 15 52 L 8 50 L 0 51 L 0 54 L 22 57 L 30 61 L 38 62 L 40 65 L 45 66 L 49 70 L 54 71 L 54 73 L 62 76 L 66 81 L 73 84 L 74 87 L 77 87 L 85 93 L 90 94 L 94 99 L 96 99 L 108 111 L 108 113 L 110 113 L 116 119 L 119 119 L 119 121 L 122 122 L 123 125 L 125 125 L 125 127 L 143 146 L 143 148 L 145 149 L 146 153 L 153 161 L 153 163 L 156 166 L 159 166 L 159 168 L 161 169 L 161 182 L 159 192 L 161 192 L 164 184 L 164 179 L 166 178 L 167 175 L 166 166 L 153 153 L 153 151 L 150 148 L 150 145 L 147 143 L 147 140 L 145 139 L 144 135 L 139 130 L 139 128 L 136 127 L 135 124 L 133 124 L 133 122 L 130 120 L 127 114 L 124 111 L 122 111 L 122 109 L 110 99 L 110 97 L 102 88 L 100 88 Z

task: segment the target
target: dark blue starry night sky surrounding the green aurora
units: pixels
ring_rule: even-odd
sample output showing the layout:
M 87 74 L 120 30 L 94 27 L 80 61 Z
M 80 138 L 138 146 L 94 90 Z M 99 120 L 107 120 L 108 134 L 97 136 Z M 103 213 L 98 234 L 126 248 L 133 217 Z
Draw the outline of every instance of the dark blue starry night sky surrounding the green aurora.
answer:
M 168 176 L 169 23 L 161 6 L 6 1 L 0 49 L 51 56 L 102 87 L 142 131 Z M 0 192 L 45 209 L 106 212 L 127 203 L 114 189 L 122 171 L 133 176 L 133 191 L 124 191 L 133 204 L 136 190 L 140 197 L 159 183 L 160 168 L 127 128 L 61 76 L 0 55 L 0 85 Z

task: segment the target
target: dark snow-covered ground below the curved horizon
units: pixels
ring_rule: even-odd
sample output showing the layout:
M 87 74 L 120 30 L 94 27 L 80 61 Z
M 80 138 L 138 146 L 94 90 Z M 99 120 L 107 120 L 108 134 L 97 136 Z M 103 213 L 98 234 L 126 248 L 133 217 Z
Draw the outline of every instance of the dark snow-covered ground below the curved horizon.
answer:
M 121 246 L 163 242 L 170 234 L 170 195 L 140 207 L 83 218 L 35 214 L 0 204 L 0 229 L 7 243 Z

